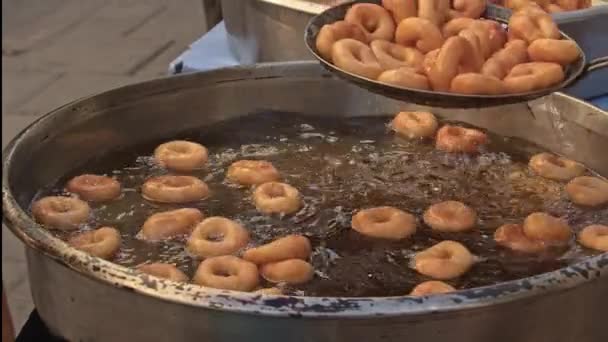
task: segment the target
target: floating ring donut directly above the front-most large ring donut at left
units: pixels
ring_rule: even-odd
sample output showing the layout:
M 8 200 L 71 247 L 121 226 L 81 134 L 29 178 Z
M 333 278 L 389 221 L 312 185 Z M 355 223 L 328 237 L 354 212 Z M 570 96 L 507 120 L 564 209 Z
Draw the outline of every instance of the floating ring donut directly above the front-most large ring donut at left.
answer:
M 187 242 L 190 253 L 209 258 L 233 254 L 247 246 L 249 232 L 225 217 L 209 217 L 199 223 Z

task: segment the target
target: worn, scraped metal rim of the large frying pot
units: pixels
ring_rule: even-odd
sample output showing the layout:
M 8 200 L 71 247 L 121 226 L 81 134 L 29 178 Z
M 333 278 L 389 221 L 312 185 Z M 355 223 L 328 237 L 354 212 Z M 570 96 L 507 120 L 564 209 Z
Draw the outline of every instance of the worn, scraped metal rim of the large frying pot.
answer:
M 233 67 L 196 74 L 173 77 L 173 82 L 185 79 L 205 82 L 223 83 L 238 82 L 243 79 L 282 77 L 280 71 L 286 66 L 300 66 L 313 70 L 315 62 L 269 63 L 259 65 L 253 73 L 250 69 Z M 226 75 L 239 77 L 226 77 Z M 325 77 L 326 74 L 323 76 Z M 329 75 L 327 75 L 329 77 Z M 115 91 L 136 90 L 138 87 L 153 85 L 158 80 L 138 85 L 126 86 Z M 566 96 L 560 94 L 559 96 Z M 82 99 L 76 101 L 86 101 Z M 69 106 L 69 105 L 68 105 Z M 31 131 L 45 121 L 53 120 L 55 110 L 40 118 L 21 132 L 3 151 L 2 166 L 7 172 L 2 175 L 2 209 L 4 223 L 13 233 L 24 241 L 28 247 L 40 251 L 59 264 L 71 268 L 79 274 L 115 286 L 125 291 L 156 297 L 162 300 L 212 310 L 223 310 L 245 314 L 257 314 L 278 317 L 311 317 L 311 318 L 359 318 L 374 316 L 403 316 L 441 313 L 466 309 L 481 308 L 536 296 L 547 295 L 573 289 L 594 279 L 608 276 L 608 253 L 585 259 L 569 267 L 534 277 L 458 291 L 453 294 L 431 297 L 295 297 L 259 295 L 225 290 L 202 288 L 196 285 L 180 284 L 148 275 L 140 274 L 133 269 L 92 257 L 68 246 L 54 237 L 49 231 L 35 223 L 29 214 L 21 208 L 9 186 L 9 170 L 14 153 Z

